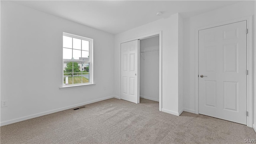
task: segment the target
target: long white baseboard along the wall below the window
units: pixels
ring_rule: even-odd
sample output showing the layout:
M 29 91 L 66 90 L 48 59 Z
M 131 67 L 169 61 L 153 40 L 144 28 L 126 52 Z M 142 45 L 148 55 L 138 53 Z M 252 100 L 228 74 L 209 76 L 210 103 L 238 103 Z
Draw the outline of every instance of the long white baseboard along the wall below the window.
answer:
M 86 104 L 91 104 L 91 103 L 94 103 L 94 102 L 99 102 L 99 101 L 107 100 L 107 99 L 110 99 L 110 98 L 117 98 L 117 96 L 108 96 L 108 97 L 105 97 L 105 98 L 100 98 L 100 99 L 92 100 L 92 101 L 89 101 L 89 102 L 83 102 L 83 103 L 80 103 L 80 104 L 74 104 L 72 106 L 66 106 L 64 108 L 57 108 L 55 110 L 49 110 L 49 111 L 46 111 L 46 112 L 40 112 L 38 114 L 32 114 L 32 115 L 29 115 L 29 116 L 23 116 L 21 118 L 15 118 L 15 119 L 12 119 L 12 120 L 6 120 L 4 122 L 1 122 L 0 126 L 4 126 L 4 125 L 7 125 L 7 124 L 12 124 L 12 123 L 15 123 L 15 122 L 20 122 L 20 121 L 23 121 L 23 120 L 28 120 L 28 119 L 31 119 L 31 118 L 36 118 L 36 117 L 39 117 L 39 116 L 44 116 L 46 114 L 52 114 L 54 112 L 60 112 L 62 110 L 68 110 L 70 108 L 75 108 L 75 107 L 78 107 L 78 106 L 84 106 Z

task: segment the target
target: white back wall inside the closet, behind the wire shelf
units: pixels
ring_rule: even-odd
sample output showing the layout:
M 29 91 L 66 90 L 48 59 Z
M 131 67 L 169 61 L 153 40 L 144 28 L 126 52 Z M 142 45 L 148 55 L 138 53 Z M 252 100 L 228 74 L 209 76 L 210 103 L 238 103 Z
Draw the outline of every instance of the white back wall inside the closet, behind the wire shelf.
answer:
M 140 40 L 140 51 L 159 48 L 159 36 Z M 159 101 L 159 51 L 140 54 L 140 96 Z

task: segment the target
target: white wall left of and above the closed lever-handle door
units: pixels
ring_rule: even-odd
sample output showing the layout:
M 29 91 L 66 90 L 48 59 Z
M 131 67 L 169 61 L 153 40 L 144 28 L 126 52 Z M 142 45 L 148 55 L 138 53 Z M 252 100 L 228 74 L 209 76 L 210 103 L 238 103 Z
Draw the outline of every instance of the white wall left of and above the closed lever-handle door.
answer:
M 254 1 L 239 2 L 184 20 L 184 110 L 195 112 L 196 28 L 254 15 Z M 253 25 L 254 27 L 255 25 Z M 253 40 L 255 38 L 252 38 Z M 254 46 L 255 47 L 255 46 Z

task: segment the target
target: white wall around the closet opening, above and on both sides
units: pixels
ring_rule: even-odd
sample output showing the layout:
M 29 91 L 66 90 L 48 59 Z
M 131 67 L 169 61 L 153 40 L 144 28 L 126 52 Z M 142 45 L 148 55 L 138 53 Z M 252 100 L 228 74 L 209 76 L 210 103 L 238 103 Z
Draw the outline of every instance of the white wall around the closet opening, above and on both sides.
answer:
M 162 31 L 162 111 L 178 115 L 178 14 L 115 35 L 114 94 L 120 97 L 120 42 Z

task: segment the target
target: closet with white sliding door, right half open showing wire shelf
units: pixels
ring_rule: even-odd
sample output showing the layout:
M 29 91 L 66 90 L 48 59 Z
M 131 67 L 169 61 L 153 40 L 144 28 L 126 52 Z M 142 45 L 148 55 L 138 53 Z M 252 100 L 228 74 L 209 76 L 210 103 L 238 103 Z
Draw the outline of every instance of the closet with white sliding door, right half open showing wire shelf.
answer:
M 120 99 L 162 111 L 162 32 L 120 42 Z

